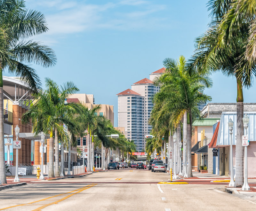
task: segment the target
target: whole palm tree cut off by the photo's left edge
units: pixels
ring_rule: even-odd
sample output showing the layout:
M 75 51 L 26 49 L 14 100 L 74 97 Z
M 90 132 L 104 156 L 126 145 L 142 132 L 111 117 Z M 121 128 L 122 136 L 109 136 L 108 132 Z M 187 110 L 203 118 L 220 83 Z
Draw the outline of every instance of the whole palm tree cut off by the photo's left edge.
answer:
M 53 66 L 56 57 L 52 49 L 32 40 L 33 35 L 48 30 L 41 12 L 28 10 L 24 1 L 0 1 L 0 110 L 4 109 L 3 71 L 20 76 L 33 93 L 40 87 L 36 71 L 27 64 L 36 63 L 43 67 Z M 4 159 L 4 117 L 0 112 L 0 181 L 6 183 Z

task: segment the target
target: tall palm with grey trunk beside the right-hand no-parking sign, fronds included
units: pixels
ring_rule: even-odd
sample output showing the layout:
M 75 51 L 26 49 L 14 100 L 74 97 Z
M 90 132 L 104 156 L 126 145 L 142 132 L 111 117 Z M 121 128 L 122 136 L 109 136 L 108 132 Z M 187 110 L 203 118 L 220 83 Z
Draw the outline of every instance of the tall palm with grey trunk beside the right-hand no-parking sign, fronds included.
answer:
M 242 1 L 241 1 L 242 2 Z M 190 59 L 192 71 L 207 72 L 221 71 L 224 75 L 236 77 L 236 181 L 235 187 L 242 187 L 244 148 L 242 147 L 242 136 L 244 135 L 243 115 L 244 97 L 243 87 L 252 86 L 252 77 L 255 74 L 256 66 L 246 59 L 246 48 L 248 44 L 248 33 L 246 30 L 236 34 L 235 39 L 223 44 L 222 25 L 227 19 L 225 17 L 233 10 L 231 1 L 210 1 L 209 9 L 212 11 L 212 21 L 209 29 L 200 37 L 196 38 L 196 51 Z M 234 11 L 233 11 L 234 12 Z M 236 20 L 234 20 L 236 22 Z M 242 30 L 242 29 L 241 29 Z M 220 44 L 223 45 L 220 45 Z

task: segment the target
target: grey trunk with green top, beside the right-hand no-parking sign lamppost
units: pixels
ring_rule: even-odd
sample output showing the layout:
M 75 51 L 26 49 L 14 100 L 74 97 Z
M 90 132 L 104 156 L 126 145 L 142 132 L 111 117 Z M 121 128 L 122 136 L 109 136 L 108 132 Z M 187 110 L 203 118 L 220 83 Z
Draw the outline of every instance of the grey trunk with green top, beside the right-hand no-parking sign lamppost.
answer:
M 236 98 L 236 180 L 234 187 L 242 187 L 244 184 L 244 147 L 242 146 L 242 136 L 244 135 L 244 97 L 241 81 L 237 82 Z M 233 171 L 233 166 L 230 169 Z

